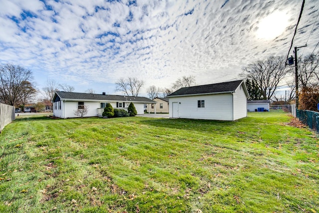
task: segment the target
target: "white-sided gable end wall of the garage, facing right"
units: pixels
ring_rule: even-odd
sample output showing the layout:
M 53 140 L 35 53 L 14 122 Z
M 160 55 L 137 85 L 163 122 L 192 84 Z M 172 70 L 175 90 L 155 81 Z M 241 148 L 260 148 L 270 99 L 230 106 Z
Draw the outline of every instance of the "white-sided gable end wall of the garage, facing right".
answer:
M 247 117 L 247 95 L 241 84 L 233 93 L 233 120 Z

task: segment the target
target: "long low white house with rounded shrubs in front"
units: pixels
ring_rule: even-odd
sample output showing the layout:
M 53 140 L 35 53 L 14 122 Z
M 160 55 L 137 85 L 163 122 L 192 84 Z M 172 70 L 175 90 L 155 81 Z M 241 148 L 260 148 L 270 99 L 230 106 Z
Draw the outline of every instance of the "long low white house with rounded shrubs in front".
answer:
M 57 91 L 52 99 L 53 115 L 60 118 L 77 117 L 75 111 L 87 106 L 85 117 L 102 116 L 107 103 L 113 108 L 127 110 L 131 102 L 138 114 L 144 114 L 144 104 L 156 103 L 145 97 Z

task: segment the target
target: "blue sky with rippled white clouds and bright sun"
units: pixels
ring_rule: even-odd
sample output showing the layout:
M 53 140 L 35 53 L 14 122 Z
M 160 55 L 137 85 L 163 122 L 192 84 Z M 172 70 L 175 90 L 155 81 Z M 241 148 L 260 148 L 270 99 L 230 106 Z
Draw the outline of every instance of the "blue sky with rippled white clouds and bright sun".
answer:
M 193 75 L 197 85 L 240 79 L 249 63 L 287 56 L 302 0 L 0 0 L 0 63 L 75 92 L 147 88 Z M 294 46 L 319 42 L 319 0 L 306 0 Z M 293 48 L 294 49 L 294 48 Z M 289 53 L 293 54 L 293 49 Z M 319 50 L 319 47 L 316 49 Z M 283 85 L 285 83 L 283 82 Z

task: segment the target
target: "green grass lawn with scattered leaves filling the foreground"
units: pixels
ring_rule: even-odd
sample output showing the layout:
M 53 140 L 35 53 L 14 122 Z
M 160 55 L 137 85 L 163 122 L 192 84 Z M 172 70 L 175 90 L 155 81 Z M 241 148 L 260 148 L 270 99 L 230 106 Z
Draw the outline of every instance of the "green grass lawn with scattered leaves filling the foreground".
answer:
M 0 212 L 319 213 L 319 139 L 235 122 L 21 116 L 0 134 Z

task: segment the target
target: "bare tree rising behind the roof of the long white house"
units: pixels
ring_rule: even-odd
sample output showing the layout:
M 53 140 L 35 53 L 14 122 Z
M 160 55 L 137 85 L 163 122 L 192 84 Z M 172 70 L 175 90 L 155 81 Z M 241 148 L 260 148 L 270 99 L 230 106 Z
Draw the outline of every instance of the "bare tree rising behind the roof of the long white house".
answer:
M 121 78 L 115 84 L 116 91 L 122 91 L 127 96 L 138 96 L 144 81 L 129 77 L 128 79 Z

